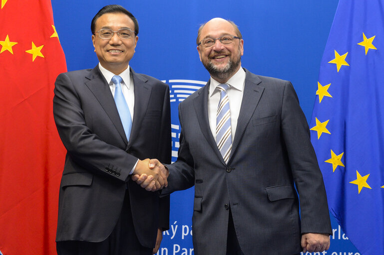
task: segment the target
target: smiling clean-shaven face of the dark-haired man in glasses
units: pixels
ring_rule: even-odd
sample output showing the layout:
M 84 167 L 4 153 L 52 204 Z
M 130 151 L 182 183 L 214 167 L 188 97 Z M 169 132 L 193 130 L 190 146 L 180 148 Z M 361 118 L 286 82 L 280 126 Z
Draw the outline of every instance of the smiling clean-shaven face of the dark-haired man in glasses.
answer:
M 95 23 L 95 31 L 109 28 L 117 31 L 121 28 L 135 30 L 132 19 L 124 13 L 105 13 Z M 120 38 L 116 33 L 110 39 L 101 39 L 98 33 L 92 35 L 93 47 L 100 64 L 107 70 L 118 75 L 124 71 L 135 53 L 138 37 L 132 32 L 127 39 Z

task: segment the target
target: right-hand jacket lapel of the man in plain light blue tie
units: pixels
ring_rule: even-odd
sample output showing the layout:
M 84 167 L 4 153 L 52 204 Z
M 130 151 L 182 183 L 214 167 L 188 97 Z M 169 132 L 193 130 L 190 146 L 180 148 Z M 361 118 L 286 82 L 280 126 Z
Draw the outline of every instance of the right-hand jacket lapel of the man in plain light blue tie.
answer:
M 132 130 L 128 142 L 128 147 L 135 140 L 139 133 L 141 123 L 147 111 L 149 97 L 151 96 L 152 87 L 146 84 L 148 81 L 142 76 L 138 76 L 132 68 L 130 68 L 131 77 L 133 79 L 134 93 L 135 93 L 135 106 L 132 120 Z

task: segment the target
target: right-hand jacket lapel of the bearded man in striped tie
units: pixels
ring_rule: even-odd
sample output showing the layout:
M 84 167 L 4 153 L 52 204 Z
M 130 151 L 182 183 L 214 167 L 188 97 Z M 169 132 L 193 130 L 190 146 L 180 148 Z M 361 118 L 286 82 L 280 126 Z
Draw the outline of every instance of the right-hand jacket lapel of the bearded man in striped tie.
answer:
M 245 129 L 247 128 L 264 91 L 264 87 L 259 85 L 261 80 L 256 75 L 250 73 L 247 69 L 244 70 L 246 72 L 244 93 L 229 161 L 231 161 L 231 157 L 236 152 L 236 148 L 243 137 Z

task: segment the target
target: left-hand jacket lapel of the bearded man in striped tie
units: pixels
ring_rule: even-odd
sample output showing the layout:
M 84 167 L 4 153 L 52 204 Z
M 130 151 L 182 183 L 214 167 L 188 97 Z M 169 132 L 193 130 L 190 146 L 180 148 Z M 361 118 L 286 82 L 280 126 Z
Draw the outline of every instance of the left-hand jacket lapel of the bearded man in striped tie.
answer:
M 225 161 L 222 155 L 220 154 L 220 150 L 217 147 L 215 138 L 213 137 L 211 128 L 209 126 L 209 120 L 208 120 L 209 84 L 210 84 L 210 81 L 208 81 L 208 83 L 204 86 L 204 88 L 198 92 L 199 95 L 193 99 L 193 105 L 195 107 L 197 120 L 199 122 L 201 132 L 203 133 L 204 137 L 207 139 L 209 145 L 211 145 L 212 149 L 215 151 L 218 158 L 225 165 Z

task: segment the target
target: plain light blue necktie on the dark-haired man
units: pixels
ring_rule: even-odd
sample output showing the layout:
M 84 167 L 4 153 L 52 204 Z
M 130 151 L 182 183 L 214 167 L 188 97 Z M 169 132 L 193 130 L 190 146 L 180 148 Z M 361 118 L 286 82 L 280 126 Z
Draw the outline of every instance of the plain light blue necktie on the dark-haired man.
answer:
M 123 79 L 121 79 L 121 77 L 118 75 L 115 75 L 112 77 L 112 82 L 113 84 L 116 85 L 114 99 L 115 99 L 117 111 L 119 112 L 121 123 L 123 124 L 125 136 L 129 141 L 129 136 L 131 134 L 131 128 L 132 128 L 132 118 L 131 118 L 131 113 L 129 112 L 127 102 L 125 101 L 123 92 L 121 91 L 122 80 Z

